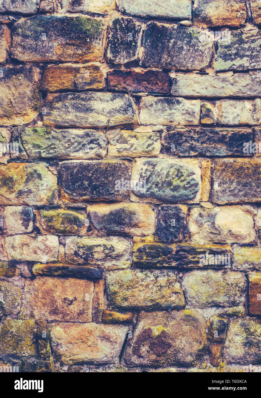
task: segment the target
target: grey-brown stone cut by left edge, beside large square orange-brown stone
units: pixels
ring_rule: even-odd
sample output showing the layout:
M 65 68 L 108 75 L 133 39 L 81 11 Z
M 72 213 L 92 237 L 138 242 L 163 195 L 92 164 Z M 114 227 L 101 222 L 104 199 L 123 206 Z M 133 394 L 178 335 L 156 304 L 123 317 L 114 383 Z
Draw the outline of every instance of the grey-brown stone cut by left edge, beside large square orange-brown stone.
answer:
M 0 281 L 0 316 L 17 315 L 22 303 L 22 290 L 9 282 Z

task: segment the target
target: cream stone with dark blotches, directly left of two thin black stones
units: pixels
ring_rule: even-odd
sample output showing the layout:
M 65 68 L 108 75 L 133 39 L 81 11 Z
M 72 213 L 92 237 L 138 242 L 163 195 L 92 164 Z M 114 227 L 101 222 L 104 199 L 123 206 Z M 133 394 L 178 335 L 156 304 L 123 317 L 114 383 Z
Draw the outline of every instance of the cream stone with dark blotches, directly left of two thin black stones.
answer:
M 71 264 L 94 264 L 104 268 L 121 267 L 129 257 L 130 243 L 121 237 L 71 236 L 66 240 L 65 257 Z

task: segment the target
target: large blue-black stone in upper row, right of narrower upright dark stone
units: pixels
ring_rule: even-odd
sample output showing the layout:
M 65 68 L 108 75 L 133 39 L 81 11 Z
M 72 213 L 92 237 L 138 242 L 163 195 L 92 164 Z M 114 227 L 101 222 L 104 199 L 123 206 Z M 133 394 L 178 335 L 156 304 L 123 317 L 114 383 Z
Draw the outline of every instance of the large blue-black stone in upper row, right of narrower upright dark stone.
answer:
M 200 30 L 149 22 L 143 33 L 142 66 L 179 70 L 205 70 L 212 57 L 212 42 L 200 41 Z

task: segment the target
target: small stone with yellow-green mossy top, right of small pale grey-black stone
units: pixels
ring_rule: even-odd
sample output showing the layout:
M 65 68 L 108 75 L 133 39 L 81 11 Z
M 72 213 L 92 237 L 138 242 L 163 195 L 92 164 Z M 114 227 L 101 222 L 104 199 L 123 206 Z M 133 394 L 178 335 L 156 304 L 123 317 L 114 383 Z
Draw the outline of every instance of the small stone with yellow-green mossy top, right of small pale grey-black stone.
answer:
M 85 235 L 86 215 L 71 210 L 36 210 L 36 225 L 42 234 Z

